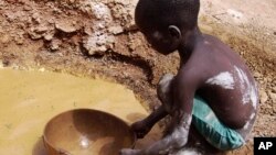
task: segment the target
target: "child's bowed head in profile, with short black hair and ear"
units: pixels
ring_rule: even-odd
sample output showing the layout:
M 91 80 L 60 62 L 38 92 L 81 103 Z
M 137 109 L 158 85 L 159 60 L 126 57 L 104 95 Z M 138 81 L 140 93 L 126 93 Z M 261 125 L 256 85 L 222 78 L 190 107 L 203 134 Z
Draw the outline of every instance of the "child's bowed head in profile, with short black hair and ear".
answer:
M 199 9 L 200 0 L 139 0 L 135 20 L 153 48 L 169 54 L 198 25 Z

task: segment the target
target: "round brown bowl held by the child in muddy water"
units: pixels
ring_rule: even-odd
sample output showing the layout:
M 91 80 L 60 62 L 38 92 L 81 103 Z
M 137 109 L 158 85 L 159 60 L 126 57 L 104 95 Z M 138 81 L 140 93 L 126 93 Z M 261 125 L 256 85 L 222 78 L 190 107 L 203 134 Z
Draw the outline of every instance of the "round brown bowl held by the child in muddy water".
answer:
M 134 132 L 113 114 L 76 109 L 54 117 L 44 129 L 49 155 L 118 155 L 132 147 Z

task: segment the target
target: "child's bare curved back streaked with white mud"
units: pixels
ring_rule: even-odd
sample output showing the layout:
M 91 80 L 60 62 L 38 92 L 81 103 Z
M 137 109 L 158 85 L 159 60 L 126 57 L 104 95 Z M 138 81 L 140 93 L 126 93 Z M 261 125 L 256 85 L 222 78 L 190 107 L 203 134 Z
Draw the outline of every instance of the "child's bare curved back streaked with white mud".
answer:
M 248 128 L 255 119 L 258 96 L 257 86 L 247 66 L 224 43 L 211 35 L 204 35 L 190 59 L 185 70 L 197 70 L 198 93 L 204 98 L 217 118 L 232 129 Z

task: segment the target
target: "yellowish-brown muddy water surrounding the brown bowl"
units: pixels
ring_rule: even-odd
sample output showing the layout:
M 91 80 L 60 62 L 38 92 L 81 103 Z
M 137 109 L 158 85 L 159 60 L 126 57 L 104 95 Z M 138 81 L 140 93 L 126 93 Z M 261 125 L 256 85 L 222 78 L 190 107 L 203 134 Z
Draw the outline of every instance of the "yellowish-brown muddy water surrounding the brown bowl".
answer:
M 45 123 L 67 110 L 103 110 L 128 123 L 148 115 L 131 90 L 99 79 L 3 68 L 0 87 L 0 155 L 44 155 Z M 159 133 L 156 126 L 137 147 L 155 142 Z

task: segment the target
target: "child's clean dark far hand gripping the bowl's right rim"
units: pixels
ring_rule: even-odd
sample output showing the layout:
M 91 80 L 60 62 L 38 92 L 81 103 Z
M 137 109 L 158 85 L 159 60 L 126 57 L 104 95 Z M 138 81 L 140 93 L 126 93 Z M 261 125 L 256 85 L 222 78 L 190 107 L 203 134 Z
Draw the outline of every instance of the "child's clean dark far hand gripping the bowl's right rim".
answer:
M 145 121 L 138 121 L 131 125 L 131 129 L 138 139 L 142 139 L 150 131 L 151 126 Z

